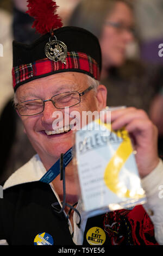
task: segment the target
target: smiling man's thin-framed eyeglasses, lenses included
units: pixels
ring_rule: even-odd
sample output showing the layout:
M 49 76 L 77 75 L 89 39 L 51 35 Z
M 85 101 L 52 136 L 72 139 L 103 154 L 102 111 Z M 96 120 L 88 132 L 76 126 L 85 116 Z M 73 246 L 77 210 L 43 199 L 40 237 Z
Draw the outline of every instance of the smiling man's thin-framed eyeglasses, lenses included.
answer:
M 88 87 L 82 93 L 73 91 L 73 92 L 65 92 L 59 93 L 51 97 L 48 100 L 35 99 L 35 100 L 26 100 L 20 102 L 14 106 L 14 108 L 18 111 L 20 115 L 28 116 L 28 115 L 36 115 L 43 112 L 46 101 L 52 101 L 55 108 L 67 108 L 73 107 L 80 103 L 80 97 L 89 92 L 93 86 Z

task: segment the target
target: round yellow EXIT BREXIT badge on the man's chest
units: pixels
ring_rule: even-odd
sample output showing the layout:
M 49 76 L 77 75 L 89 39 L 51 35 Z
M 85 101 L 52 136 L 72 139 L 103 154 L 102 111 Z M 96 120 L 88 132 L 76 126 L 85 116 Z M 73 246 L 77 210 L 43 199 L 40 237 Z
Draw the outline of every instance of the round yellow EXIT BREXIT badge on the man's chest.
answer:
M 106 235 L 102 228 L 93 227 L 87 231 L 86 240 L 90 245 L 103 245 Z

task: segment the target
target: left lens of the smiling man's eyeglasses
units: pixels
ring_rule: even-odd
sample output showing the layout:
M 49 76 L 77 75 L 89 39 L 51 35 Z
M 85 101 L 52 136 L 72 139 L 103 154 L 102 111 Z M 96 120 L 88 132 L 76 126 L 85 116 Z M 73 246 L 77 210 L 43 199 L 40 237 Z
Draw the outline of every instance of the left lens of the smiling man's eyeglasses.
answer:
M 43 111 L 43 101 L 42 100 L 28 100 L 18 104 L 18 112 L 21 115 L 34 115 L 39 114 Z

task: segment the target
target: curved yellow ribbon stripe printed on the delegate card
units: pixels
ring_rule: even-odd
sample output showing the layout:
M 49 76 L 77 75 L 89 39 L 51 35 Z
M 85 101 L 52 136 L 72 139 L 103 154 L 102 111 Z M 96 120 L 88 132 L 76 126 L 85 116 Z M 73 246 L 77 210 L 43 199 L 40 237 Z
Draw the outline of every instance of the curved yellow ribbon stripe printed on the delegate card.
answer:
M 119 197 L 130 198 L 130 191 L 120 183 L 119 174 L 123 164 L 127 161 L 132 152 L 133 148 L 128 138 L 121 143 L 105 169 L 104 182 L 106 186 Z

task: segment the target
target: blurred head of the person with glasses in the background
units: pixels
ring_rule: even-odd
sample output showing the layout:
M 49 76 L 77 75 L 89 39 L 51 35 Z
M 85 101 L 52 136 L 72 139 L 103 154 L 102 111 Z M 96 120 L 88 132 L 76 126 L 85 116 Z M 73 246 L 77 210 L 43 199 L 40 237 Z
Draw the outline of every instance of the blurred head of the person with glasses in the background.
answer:
M 133 7 L 126 0 L 83 0 L 74 10 L 69 25 L 86 28 L 98 37 L 102 78 L 108 76 L 110 66 L 124 63 L 127 45 L 134 41 Z

